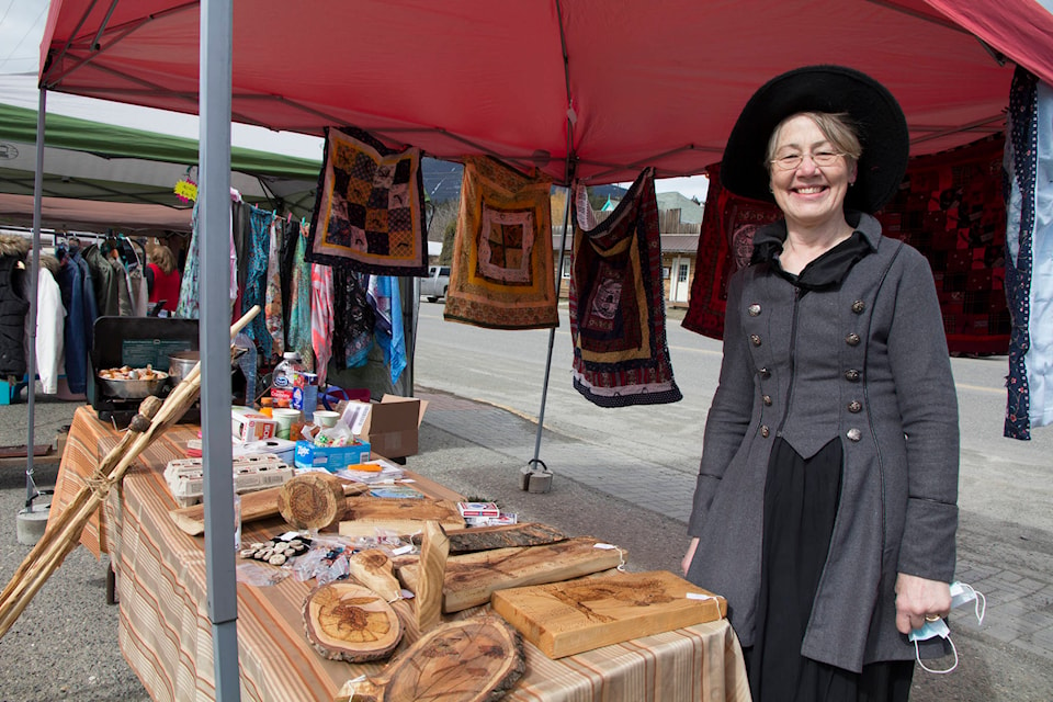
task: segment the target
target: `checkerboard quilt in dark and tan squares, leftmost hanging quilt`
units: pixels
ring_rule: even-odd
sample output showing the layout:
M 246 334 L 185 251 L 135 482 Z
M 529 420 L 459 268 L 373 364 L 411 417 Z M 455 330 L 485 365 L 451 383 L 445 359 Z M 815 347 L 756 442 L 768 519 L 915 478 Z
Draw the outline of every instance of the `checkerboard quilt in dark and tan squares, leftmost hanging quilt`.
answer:
M 353 127 L 326 129 L 307 260 L 377 275 L 427 275 L 420 149 L 388 149 Z

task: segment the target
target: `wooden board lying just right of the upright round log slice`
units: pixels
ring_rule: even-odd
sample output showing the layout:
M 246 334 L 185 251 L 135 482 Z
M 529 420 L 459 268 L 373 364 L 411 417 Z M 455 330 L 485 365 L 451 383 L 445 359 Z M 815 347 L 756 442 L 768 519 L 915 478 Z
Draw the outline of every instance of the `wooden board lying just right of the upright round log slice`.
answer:
M 450 500 L 421 498 L 355 497 L 340 521 L 342 536 L 375 536 L 377 529 L 401 536 L 423 529 L 424 522 L 439 522 L 443 529 L 464 529 L 464 518 Z

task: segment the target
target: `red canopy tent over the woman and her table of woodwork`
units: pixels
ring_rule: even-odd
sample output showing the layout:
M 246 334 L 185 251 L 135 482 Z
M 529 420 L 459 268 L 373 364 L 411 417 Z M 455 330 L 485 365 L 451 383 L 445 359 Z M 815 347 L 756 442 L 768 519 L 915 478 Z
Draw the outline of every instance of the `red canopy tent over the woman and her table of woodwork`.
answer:
M 796 66 L 842 64 L 882 81 L 904 107 L 915 155 L 1000 132 L 1009 61 L 1053 82 L 1053 18 L 1037 0 L 253 0 L 233 14 L 231 4 L 52 0 L 41 87 L 201 105 L 208 202 L 207 173 L 219 181 L 229 170 L 229 159 L 208 162 L 210 143 L 223 150 L 219 117 L 308 134 L 353 125 L 438 158 L 489 154 L 564 184 L 600 184 L 648 166 L 659 178 L 702 172 L 754 90 Z M 222 230 L 223 216 L 206 212 L 206 230 Z M 204 299 L 223 303 L 222 293 Z M 210 307 L 206 378 L 207 358 L 226 360 L 205 339 L 225 331 L 222 310 L 204 318 Z M 211 389 L 206 419 L 222 414 L 222 388 Z M 220 439 L 206 430 L 206 458 L 229 461 Z M 233 494 L 215 485 L 206 478 L 206 503 Z M 227 502 L 206 517 L 220 698 L 237 697 L 237 614 L 224 590 L 233 563 L 212 547 L 213 537 L 229 543 Z

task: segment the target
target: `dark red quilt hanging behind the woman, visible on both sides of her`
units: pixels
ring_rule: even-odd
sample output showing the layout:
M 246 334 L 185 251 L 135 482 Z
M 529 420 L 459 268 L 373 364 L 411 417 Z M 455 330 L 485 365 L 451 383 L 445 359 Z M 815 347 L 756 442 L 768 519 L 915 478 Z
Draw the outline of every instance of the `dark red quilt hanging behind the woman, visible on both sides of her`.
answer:
M 912 158 L 896 195 L 875 215 L 885 236 L 906 241 L 929 261 L 951 353 L 1001 354 L 1009 346 L 1004 141 L 996 135 Z M 710 192 L 682 322 L 714 339 L 724 333 L 727 281 L 748 264 L 754 231 L 782 217 L 772 204 L 724 190 L 718 172 L 718 166 L 706 169 Z

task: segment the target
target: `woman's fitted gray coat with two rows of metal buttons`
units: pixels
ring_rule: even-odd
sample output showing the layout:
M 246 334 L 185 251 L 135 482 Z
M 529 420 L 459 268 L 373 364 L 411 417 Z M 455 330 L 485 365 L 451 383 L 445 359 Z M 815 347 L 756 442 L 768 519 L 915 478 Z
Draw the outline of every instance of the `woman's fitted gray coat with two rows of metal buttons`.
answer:
M 896 631 L 896 576 L 951 581 L 959 466 L 958 399 L 929 264 L 858 216 L 872 252 L 833 290 L 799 294 L 767 263 L 732 278 L 688 524 L 699 537 L 688 578 L 727 598 L 751 646 L 772 441 L 808 458 L 840 437 L 840 501 L 801 653 L 857 672 L 915 656 Z M 785 236 L 784 223 L 771 226 Z

